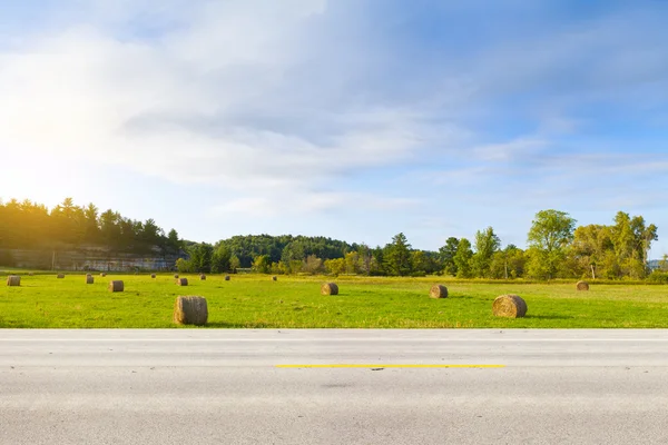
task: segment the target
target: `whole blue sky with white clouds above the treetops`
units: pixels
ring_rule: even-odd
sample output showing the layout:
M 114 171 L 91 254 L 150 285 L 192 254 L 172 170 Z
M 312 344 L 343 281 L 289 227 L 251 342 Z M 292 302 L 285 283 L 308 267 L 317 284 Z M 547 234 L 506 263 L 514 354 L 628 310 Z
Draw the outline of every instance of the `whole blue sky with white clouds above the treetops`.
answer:
M 658 226 L 668 2 L 0 0 L 0 198 L 435 250 Z

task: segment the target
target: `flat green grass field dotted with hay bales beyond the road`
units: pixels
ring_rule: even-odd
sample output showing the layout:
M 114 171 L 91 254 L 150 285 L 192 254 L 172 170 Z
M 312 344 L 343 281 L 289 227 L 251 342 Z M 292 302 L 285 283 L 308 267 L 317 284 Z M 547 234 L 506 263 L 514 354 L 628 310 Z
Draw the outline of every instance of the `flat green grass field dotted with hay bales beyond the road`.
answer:
M 184 276 L 184 275 L 181 275 Z M 668 286 L 574 283 L 523 284 L 449 281 L 440 277 L 285 277 L 233 275 L 188 287 L 171 274 L 21 276 L 20 287 L 0 285 L 0 328 L 168 328 L 178 295 L 207 298 L 214 328 L 668 328 Z M 122 279 L 125 291 L 111 294 L 109 280 Z M 340 295 L 322 296 L 322 283 L 335 280 Z M 430 286 L 444 284 L 449 297 L 429 298 Z M 527 317 L 492 316 L 501 294 L 518 294 Z

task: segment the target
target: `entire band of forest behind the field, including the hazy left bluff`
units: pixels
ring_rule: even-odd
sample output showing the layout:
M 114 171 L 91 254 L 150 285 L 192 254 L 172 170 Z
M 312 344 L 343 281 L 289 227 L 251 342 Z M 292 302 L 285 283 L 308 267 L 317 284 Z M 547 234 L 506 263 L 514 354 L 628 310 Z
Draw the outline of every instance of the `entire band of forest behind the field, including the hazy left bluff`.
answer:
M 0 201 L 0 250 L 105 248 L 136 255 L 183 255 L 183 273 L 355 274 L 387 276 L 450 275 L 459 278 L 553 279 L 650 277 L 668 273 L 648 267 L 657 227 L 641 216 L 618 211 L 611 225 L 576 226 L 569 214 L 541 210 L 527 235 L 527 249 L 502 247 L 492 227 L 472 240 L 450 237 L 438 251 L 412 248 L 403 233 L 385 246 L 370 247 L 326 237 L 247 235 L 216 244 L 167 235 L 153 219 L 138 221 L 71 198 L 48 209 L 29 200 Z M 185 254 L 185 255 L 184 255 Z M 0 255 L 0 265 L 2 256 Z M 668 270 L 668 258 L 660 268 Z

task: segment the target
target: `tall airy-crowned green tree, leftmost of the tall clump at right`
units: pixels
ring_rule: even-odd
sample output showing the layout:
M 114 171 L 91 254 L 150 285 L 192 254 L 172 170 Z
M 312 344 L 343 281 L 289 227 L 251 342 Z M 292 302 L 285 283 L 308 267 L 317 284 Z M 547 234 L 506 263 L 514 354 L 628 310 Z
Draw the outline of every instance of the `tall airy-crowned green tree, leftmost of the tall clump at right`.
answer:
M 532 274 L 553 278 L 566 255 L 566 248 L 573 239 L 576 220 L 567 212 L 541 210 L 536 214 L 527 236 L 532 251 L 530 269 Z M 540 261 L 544 261 L 540 265 Z

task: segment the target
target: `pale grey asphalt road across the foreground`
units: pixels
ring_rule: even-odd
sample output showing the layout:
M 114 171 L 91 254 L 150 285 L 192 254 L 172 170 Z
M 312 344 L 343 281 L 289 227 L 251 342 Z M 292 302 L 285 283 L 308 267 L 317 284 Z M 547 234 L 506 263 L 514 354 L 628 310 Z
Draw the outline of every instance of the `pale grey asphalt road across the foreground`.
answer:
M 0 329 L 0 444 L 189 443 L 668 444 L 668 330 Z

